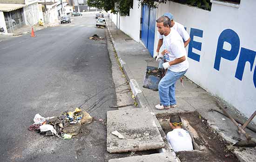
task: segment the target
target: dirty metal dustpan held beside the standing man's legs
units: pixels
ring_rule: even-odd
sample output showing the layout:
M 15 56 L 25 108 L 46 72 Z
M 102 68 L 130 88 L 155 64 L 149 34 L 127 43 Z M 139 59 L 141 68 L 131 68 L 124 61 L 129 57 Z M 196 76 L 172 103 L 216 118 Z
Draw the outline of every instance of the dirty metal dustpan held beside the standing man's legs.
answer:
M 162 79 L 163 74 L 163 69 L 147 66 L 142 87 L 158 91 L 158 83 Z

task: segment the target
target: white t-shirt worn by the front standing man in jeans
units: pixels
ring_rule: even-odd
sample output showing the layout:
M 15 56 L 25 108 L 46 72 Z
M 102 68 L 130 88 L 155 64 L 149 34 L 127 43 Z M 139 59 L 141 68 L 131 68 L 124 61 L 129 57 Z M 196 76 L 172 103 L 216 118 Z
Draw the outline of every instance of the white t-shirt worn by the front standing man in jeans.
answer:
M 167 36 L 163 35 L 163 47 L 165 50 L 169 51 L 169 53 L 164 55 L 167 62 L 186 56 L 187 53 L 182 37 L 173 29 L 171 29 Z M 182 72 L 189 69 L 189 62 L 186 58 L 185 61 L 172 65 L 168 69 L 173 72 Z

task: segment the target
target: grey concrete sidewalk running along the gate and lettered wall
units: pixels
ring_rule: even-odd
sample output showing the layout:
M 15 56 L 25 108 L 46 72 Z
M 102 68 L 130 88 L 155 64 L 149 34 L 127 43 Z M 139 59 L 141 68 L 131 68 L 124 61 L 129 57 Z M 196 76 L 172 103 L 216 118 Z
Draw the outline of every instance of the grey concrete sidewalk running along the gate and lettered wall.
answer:
M 111 21 L 111 20 L 110 20 Z M 111 23 L 111 22 L 108 22 Z M 177 107 L 169 110 L 156 110 L 155 105 L 160 103 L 158 91 L 152 91 L 142 87 L 144 75 L 147 66 L 158 66 L 158 62 L 155 62 L 148 50 L 140 43 L 135 42 L 131 37 L 118 30 L 116 32 L 116 26 L 114 23 L 108 25 L 108 32 L 112 39 L 115 51 L 119 57 L 121 66 L 126 74 L 126 77 L 130 83 L 131 89 L 136 96 L 136 101 L 139 107 L 148 108 L 149 111 L 154 112 L 155 115 L 163 113 L 175 113 L 175 112 L 194 112 L 197 111 L 203 118 L 207 119 L 209 125 L 215 129 L 228 143 L 236 143 L 237 138 L 241 138 L 237 132 L 237 127 L 231 122 L 231 120 L 219 112 L 211 111 L 218 109 L 219 105 L 216 101 L 225 106 L 225 102 L 216 99 L 210 93 L 206 92 L 195 83 L 183 77 L 183 85 L 176 82 L 176 100 Z M 232 116 L 237 118 L 243 118 L 241 115 L 237 115 L 234 112 L 235 109 L 229 109 L 232 112 Z M 245 120 L 245 119 L 244 119 Z M 255 125 L 252 124 L 255 127 Z M 256 133 L 245 130 L 256 139 Z M 249 153 L 256 154 L 256 149 L 245 148 L 243 150 L 247 152 L 248 156 L 252 156 Z M 245 153 L 241 154 L 239 149 L 234 149 L 235 155 L 240 161 L 248 161 L 248 156 Z M 253 161 L 256 161 L 256 157 Z M 250 159 L 251 161 L 252 159 Z

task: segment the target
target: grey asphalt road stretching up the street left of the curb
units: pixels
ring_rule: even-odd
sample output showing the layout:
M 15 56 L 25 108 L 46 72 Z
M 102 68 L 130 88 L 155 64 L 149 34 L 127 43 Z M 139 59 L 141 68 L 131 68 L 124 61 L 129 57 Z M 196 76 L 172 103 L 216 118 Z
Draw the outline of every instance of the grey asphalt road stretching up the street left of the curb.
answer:
M 104 162 L 124 156 L 106 150 L 106 112 L 116 103 L 107 44 L 89 39 L 104 38 L 105 30 L 95 28 L 94 17 L 71 20 L 36 31 L 36 37 L 0 42 L 0 162 Z M 88 109 L 104 96 L 89 111 L 94 122 L 78 136 L 62 140 L 28 131 L 35 114 L 73 111 L 96 93 L 82 106 Z

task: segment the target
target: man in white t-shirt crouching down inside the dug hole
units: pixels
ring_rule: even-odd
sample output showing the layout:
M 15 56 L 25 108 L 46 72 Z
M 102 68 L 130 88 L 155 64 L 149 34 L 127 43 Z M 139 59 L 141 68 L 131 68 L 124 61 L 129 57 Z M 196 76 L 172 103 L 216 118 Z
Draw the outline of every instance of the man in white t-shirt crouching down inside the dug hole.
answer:
M 172 115 L 169 124 L 173 131 L 169 131 L 166 138 L 175 152 L 193 150 L 192 139 L 189 132 L 182 129 L 182 120 L 178 115 Z

